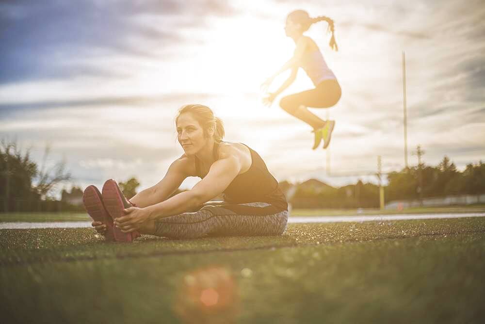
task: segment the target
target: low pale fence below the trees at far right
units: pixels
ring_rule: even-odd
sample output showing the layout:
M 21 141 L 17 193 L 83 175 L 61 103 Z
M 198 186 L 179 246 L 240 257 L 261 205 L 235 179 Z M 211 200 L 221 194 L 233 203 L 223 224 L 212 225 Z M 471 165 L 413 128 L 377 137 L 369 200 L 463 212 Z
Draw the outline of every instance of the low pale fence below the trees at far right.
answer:
M 438 207 L 449 205 L 485 204 L 485 194 L 461 194 L 456 196 L 423 198 L 420 200 L 396 200 L 386 204 L 386 209 L 402 209 L 410 207 Z

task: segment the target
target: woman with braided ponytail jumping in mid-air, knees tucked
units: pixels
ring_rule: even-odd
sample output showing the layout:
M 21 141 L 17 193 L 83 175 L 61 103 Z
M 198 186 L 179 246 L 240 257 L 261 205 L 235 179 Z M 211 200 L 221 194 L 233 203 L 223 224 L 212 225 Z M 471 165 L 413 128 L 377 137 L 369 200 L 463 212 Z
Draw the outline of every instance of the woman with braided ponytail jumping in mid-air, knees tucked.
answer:
M 338 50 L 333 35 L 334 24 L 332 19 L 325 16 L 311 18 L 304 10 L 293 11 L 288 15 L 285 25 L 286 35 L 291 37 L 296 44 L 293 57 L 262 84 L 263 90 L 266 90 L 276 76 L 291 69 L 290 77 L 278 90 L 274 93 L 269 93 L 268 97 L 265 98 L 265 103 L 271 105 L 273 100 L 275 100 L 275 97 L 295 81 L 298 68 L 302 67 L 305 70 L 308 77 L 315 85 L 315 88 L 283 97 L 280 100 L 279 105 L 283 110 L 304 121 L 313 128 L 312 132 L 315 133 L 313 149 L 320 145 L 322 139 L 323 148 L 328 146 L 330 137 L 332 136 L 332 130 L 335 126 L 335 121 L 325 121 L 317 115 L 310 113 L 307 108 L 332 107 L 339 101 L 341 96 L 339 82 L 332 70 L 326 65 L 317 44 L 310 37 L 303 34 L 312 24 L 319 21 L 326 21 L 328 23 L 328 30 L 332 32 L 330 47 L 336 51 Z

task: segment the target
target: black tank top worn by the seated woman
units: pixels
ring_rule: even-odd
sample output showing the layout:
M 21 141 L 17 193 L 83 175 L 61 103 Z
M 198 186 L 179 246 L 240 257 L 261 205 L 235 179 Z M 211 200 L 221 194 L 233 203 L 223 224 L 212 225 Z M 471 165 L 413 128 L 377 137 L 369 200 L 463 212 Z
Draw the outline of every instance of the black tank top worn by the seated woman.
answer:
M 242 143 L 241 143 L 242 144 Z M 249 148 L 251 152 L 251 166 L 249 169 L 237 175 L 226 190 L 224 190 L 224 201 L 235 204 L 244 204 L 250 202 L 266 202 L 274 205 L 281 211 L 288 210 L 288 202 L 285 194 L 281 191 L 278 181 L 268 171 L 263 159 L 258 152 L 251 147 L 242 144 Z M 217 160 L 218 143 L 214 143 L 214 159 Z M 195 175 L 199 178 L 204 178 L 200 171 L 200 162 L 195 157 Z

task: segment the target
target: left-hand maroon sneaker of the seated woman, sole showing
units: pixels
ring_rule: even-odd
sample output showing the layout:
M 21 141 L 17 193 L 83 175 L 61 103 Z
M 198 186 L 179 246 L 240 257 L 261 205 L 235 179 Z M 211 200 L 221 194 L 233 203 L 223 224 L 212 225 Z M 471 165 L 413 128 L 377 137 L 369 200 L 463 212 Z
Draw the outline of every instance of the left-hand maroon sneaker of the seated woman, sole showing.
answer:
M 94 221 L 102 222 L 106 225 L 106 233 L 104 235 L 106 241 L 114 241 L 113 219 L 111 219 L 108 211 L 104 208 L 99 190 L 93 185 L 88 186 L 84 189 L 82 202 L 84 203 L 84 209 Z

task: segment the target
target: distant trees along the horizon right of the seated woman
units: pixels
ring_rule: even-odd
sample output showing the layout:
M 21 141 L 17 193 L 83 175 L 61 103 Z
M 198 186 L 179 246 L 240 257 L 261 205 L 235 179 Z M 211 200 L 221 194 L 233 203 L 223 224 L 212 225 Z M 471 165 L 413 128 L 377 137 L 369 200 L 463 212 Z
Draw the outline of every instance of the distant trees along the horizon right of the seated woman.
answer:
M 331 187 L 310 179 L 292 185 L 280 183 L 293 208 L 378 208 L 379 187 L 358 181 L 355 185 Z M 388 174 L 385 201 L 416 200 L 459 194 L 485 193 L 485 163 L 470 163 L 460 172 L 445 156 L 437 166 L 421 163 Z

